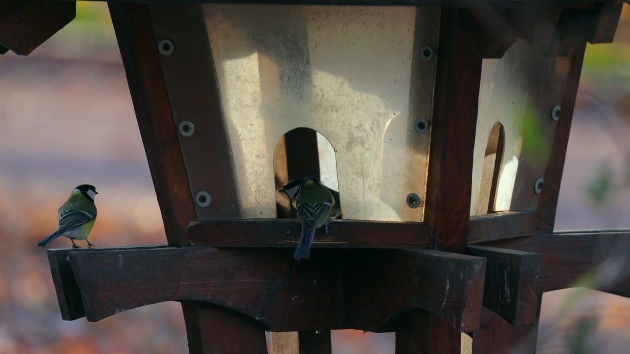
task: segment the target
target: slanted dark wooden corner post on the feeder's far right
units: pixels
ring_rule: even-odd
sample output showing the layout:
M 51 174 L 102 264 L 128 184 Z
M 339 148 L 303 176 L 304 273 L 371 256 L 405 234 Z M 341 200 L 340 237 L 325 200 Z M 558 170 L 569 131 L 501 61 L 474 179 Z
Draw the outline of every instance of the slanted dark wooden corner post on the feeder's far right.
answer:
M 551 157 L 544 176 L 544 187 L 538 201 L 541 226 L 544 232 L 552 232 L 556 220 L 556 206 L 558 205 L 558 195 L 560 191 L 560 180 L 564 168 L 564 157 L 566 147 L 569 144 L 569 133 L 571 131 L 571 121 L 573 120 L 573 110 L 580 84 L 580 74 L 586 42 L 580 42 L 575 46 L 573 52 L 564 58 L 558 58 L 556 66 L 569 66 L 568 78 L 564 84 L 563 96 L 561 98 L 561 112 L 556 128 Z

